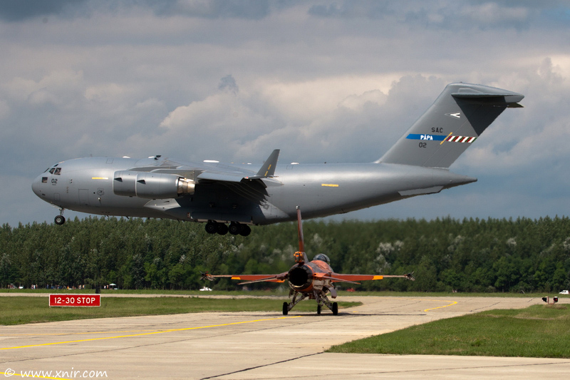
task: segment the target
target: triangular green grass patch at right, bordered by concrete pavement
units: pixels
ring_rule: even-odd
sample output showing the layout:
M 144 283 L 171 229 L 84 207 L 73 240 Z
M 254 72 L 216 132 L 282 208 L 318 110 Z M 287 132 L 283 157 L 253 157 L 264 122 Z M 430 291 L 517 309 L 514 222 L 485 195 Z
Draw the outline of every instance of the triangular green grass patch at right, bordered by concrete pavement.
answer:
M 440 319 L 328 352 L 570 358 L 570 309 L 534 305 Z

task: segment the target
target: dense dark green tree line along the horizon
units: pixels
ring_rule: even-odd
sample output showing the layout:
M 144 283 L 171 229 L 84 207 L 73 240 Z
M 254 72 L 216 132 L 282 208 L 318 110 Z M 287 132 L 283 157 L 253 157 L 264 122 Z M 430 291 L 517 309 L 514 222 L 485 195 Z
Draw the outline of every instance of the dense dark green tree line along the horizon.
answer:
M 304 222 L 309 259 L 339 273 L 406 274 L 363 290 L 559 292 L 570 288 L 570 219 L 544 217 Z M 200 272 L 274 274 L 294 264 L 296 223 L 252 228 L 248 237 L 209 235 L 200 223 L 87 217 L 65 225 L 0 230 L 0 286 L 199 289 Z M 239 289 L 229 279 L 213 289 Z M 250 287 L 264 288 L 268 284 Z M 345 286 L 346 287 L 346 286 Z M 351 285 L 351 287 L 353 287 Z

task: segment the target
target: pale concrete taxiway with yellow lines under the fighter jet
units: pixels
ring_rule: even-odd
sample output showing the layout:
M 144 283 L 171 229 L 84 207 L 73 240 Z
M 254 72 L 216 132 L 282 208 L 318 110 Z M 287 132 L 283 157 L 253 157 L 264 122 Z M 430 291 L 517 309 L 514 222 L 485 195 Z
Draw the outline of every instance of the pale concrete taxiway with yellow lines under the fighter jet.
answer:
M 570 359 L 323 353 L 333 344 L 435 319 L 541 304 L 540 297 L 339 300 L 364 304 L 341 309 L 336 317 L 328 310 L 317 316 L 293 309 L 287 317 L 198 313 L 4 326 L 0 375 L 22 378 L 26 371 L 43 371 L 49 379 L 551 379 L 570 373 Z

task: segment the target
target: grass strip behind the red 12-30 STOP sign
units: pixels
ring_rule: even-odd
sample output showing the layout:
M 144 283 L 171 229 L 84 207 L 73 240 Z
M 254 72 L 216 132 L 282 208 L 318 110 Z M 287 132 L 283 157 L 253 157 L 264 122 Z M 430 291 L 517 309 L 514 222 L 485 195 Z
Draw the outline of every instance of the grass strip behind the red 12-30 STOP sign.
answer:
M 100 307 L 49 307 L 48 297 L 1 297 L 0 325 L 68 321 L 71 319 L 135 317 L 198 312 L 275 312 L 284 299 L 211 299 L 198 297 L 101 297 Z M 338 308 L 361 302 L 338 302 Z M 299 302 L 291 312 L 315 312 L 316 302 Z M 327 312 L 323 309 L 323 314 Z

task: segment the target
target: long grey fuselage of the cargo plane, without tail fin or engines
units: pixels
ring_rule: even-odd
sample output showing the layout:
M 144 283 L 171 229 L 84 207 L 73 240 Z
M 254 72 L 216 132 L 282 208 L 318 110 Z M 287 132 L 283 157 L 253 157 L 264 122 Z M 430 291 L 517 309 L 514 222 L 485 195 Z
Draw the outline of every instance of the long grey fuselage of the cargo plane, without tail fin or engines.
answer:
M 156 197 L 136 192 L 118 195 L 118 186 L 123 185 L 118 173 L 170 177 L 169 170 L 180 173 L 179 168 L 184 168 L 185 177 L 190 178 L 204 170 L 204 165 L 211 170 L 222 165 L 224 170 L 252 170 L 251 165 L 182 163 L 164 158 L 78 158 L 46 170 L 33 181 L 32 188 L 42 200 L 61 209 L 91 214 L 264 225 L 295 220 L 296 206 L 303 208 L 306 217 L 323 217 L 476 180 L 446 169 L 412 165 L 291 164 L 277 165 L 273 178 L 257 181 L 196 180 L 192 194 L 170 197 L 167 190 L 164 195 L 159 190 Z

